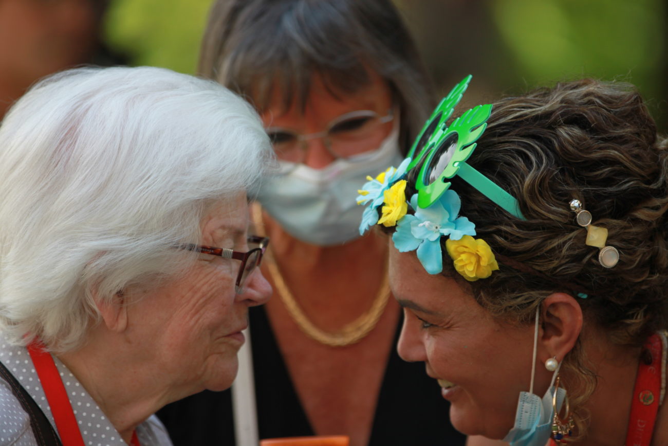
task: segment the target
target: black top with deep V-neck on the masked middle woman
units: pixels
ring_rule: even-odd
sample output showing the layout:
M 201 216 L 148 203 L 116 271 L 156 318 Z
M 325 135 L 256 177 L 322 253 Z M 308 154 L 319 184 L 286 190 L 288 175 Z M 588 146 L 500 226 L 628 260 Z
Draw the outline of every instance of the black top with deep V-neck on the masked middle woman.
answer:
M 297 397 L 275 342 L 265 309 L 250 309 L 255 394 L 261 439 L 315 435 Z M 466 437 L 454 430 L 449 405 L 424 364 L 404 362 L 396 344 L 397 327 L 373 419 L 369 446 L 463 446 Z M 231 391 L 204 391 L 158 412 L 174 446 L 234 446 Z M 341 433 L 344 434 L 345 433 Z

